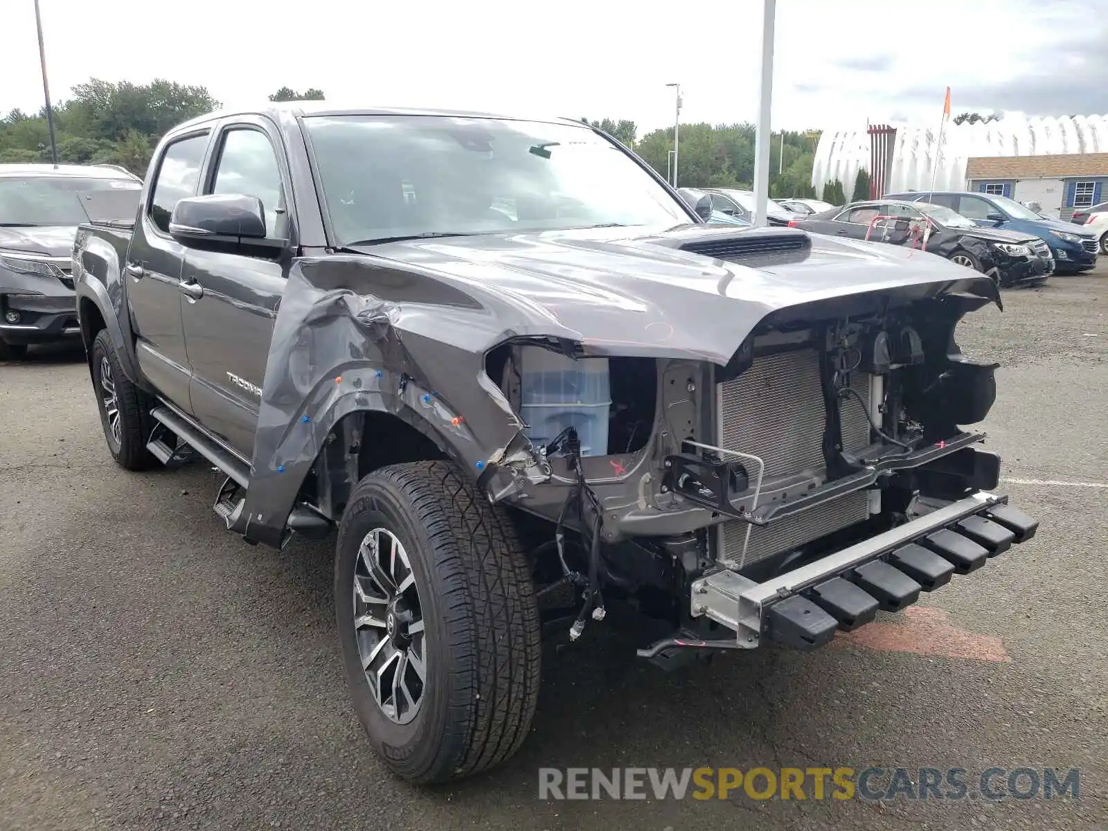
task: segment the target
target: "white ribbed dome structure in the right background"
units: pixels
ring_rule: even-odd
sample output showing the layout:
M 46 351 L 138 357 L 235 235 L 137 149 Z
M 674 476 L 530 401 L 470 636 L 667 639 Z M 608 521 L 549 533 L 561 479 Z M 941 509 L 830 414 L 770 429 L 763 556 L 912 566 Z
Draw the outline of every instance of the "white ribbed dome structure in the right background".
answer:
M 931 188 L 936 150 L 936 191 L 965 189 L 966 161 L 972 157 L 1108 153 L 1108 114 L 1063 117 L 1008 114 L 988 123 L 947 122 L 941 147 L 937 119 L 934 124 L 904 124 L 895 130 L 892 154 L 886 162 L 885 193 Z M 815 148 L 812 187 L 818 195 L 823 185 L 839 179 L 850 194 L 859 170 L 870 171 L 870 166 L 871 136 L 866 126 L 824 131 Z

